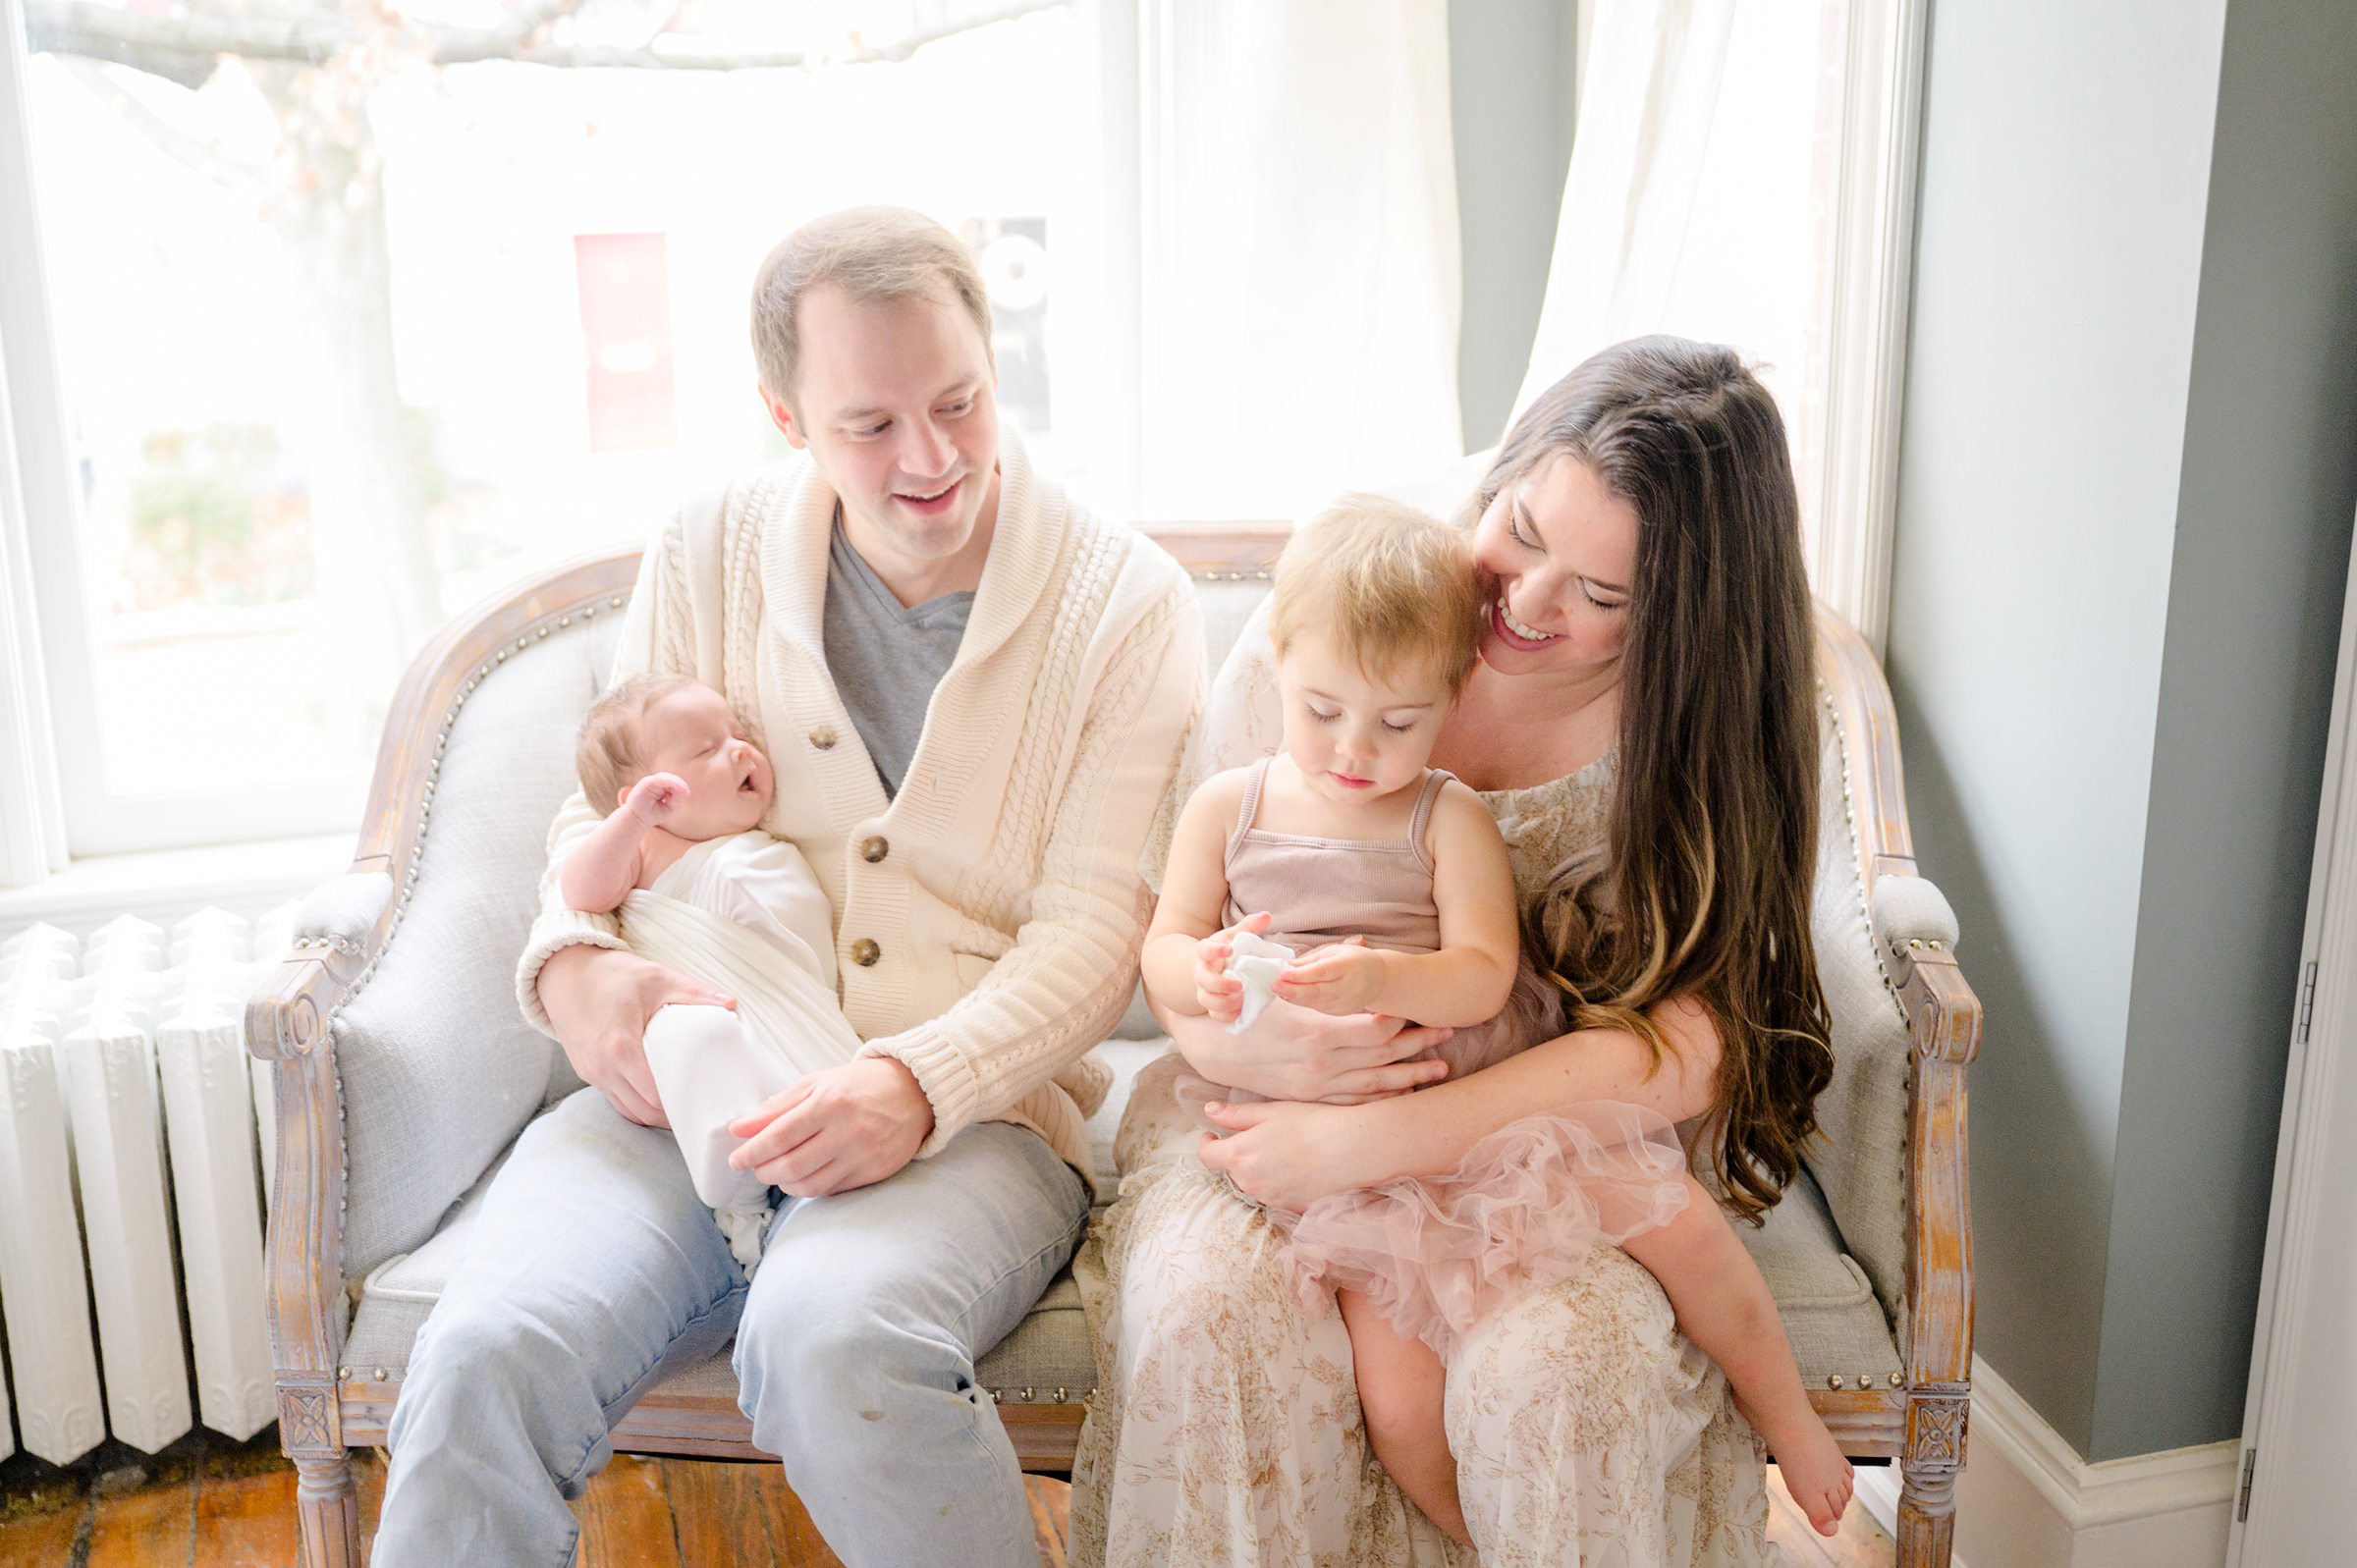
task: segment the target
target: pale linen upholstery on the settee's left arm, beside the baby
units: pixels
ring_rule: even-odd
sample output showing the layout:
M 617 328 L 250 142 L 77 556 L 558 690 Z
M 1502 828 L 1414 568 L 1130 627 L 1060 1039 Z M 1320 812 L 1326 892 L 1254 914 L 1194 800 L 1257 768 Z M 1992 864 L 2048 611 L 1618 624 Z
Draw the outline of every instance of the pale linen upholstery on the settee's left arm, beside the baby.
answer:
M 596 615 L 535 641 L 450 726 L 408 915 L 335 1016 L 346 1276 L 431 1236 L 547 1096 L 559 1052 L 516 1012 L 516 955 L 618 634 Z

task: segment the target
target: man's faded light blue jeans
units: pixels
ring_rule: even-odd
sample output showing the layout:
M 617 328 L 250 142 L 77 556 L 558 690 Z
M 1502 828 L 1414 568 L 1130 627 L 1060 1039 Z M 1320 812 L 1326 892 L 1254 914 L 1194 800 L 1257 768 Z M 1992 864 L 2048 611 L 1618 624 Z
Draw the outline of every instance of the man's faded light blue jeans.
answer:
M 1089 1217 L 1080 1174 L 983 1122 L 874 1186 L 787 1198 L 752 1285 L 669 1132 L 582 1089 L 500 1170 L 394 1410 L 377 1568 L 568 1563 L 608 1427 L 735 1335 L 752 1436 L 851 1568 L 1037 1563 L 973 1363 Z

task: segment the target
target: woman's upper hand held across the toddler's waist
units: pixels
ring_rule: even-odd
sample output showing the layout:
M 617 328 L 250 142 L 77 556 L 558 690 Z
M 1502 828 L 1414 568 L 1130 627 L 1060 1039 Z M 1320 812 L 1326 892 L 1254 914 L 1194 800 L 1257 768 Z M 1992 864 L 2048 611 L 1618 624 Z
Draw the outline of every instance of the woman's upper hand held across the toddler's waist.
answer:
M 1412 1061 L 1454 1030 L 1419 1028 L 1376 1014 L 1327 1014 L 1270 1002 L 1244 1035 L 1200 1016 L 1164 1016 L 1188 1066 L 1235 1089 L 1268 1099 L 1358 1103 L 1388 1099 L 1447 1078 L 1445 1061 Z

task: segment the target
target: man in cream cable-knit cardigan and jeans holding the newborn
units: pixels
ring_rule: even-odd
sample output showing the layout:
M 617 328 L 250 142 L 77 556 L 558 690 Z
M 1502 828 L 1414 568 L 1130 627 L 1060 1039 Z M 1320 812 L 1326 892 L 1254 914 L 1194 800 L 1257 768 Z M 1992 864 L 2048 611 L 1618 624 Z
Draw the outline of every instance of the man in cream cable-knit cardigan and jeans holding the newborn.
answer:
M 747 1285 L 641 1042 L 660 1007 L 726 997 L 563 908 L 556 863 L 596 821 L 566 804 L 516 983 L 592 1087 L 519 1139 L 417 1337 L 379 1568 L 566 1561 L 610 1422 L 731 1332 L 754 1441 L 846 1563 L 1037 1561 L 973 1361 L 1087 1221 L 1084 1054 L 1136 976 L 1195 599 L 999 431 L 983 283 L 938 224 L 794 231 L 754 349 L 797 455 L 681 507 L 615 677 L 691 674 L 768 750 L 764 825 L 825 884 L 865 1054 L 747 1106 L 740 1160 L 785 1193 Z

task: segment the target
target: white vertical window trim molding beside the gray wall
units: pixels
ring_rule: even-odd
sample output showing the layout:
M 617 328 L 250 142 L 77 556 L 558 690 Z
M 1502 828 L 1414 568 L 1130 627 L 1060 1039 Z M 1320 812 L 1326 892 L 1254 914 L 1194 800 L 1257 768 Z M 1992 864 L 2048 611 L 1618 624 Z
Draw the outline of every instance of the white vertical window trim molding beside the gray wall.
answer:
M 1876 658 L 1890 622 L 1928 28 L 1930 0 L 1853 5 L 1843 68 L 1824 493 L 1810 580 Z

